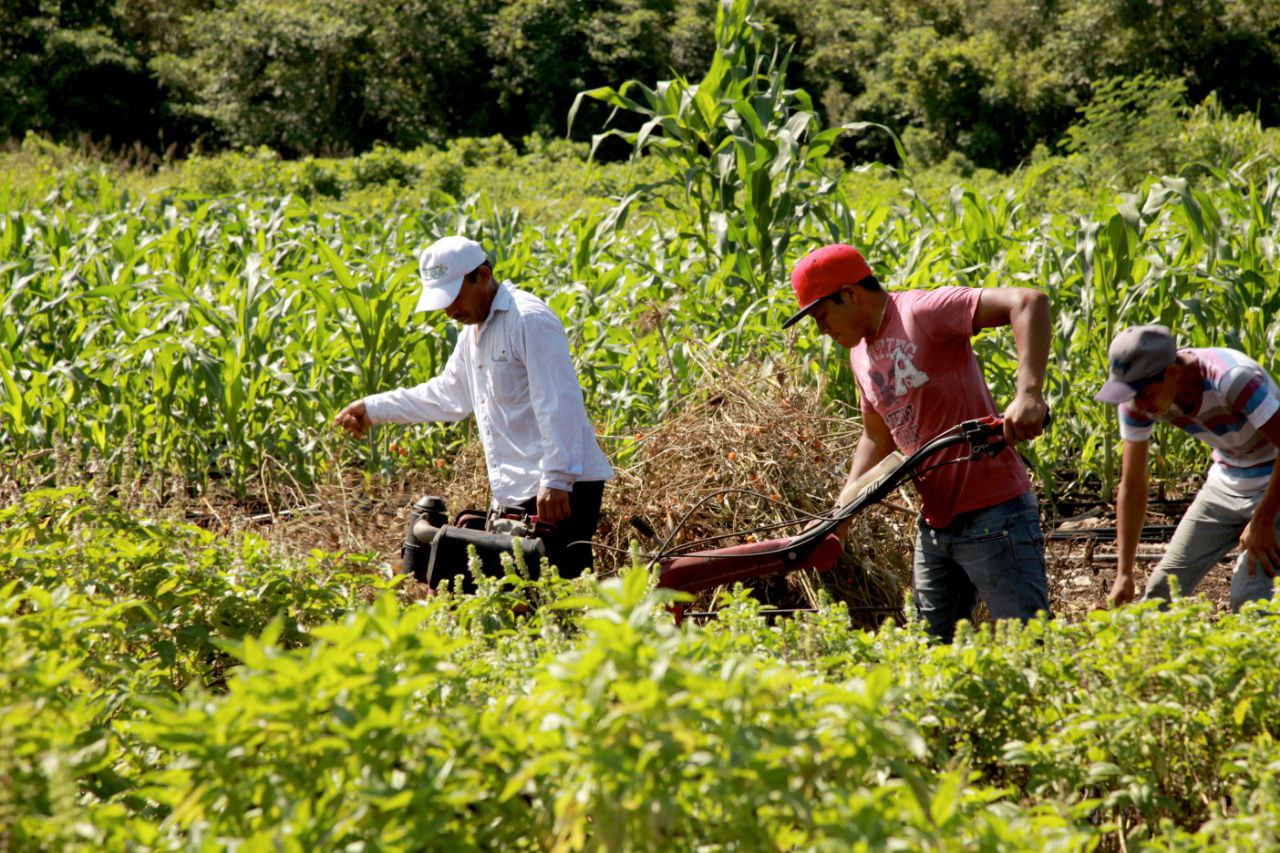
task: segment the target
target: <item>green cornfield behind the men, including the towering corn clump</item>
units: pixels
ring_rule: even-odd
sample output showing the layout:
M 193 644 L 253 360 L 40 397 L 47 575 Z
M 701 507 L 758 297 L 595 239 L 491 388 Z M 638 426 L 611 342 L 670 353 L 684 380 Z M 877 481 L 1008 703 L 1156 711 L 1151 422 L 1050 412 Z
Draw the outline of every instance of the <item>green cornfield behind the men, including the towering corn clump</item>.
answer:
M 586 93 L 639 117 L 641 131 L 618 134 L 645 156 L 612 205 L 585 204 L 549 224 L 495 206 L 484 186 L 452 195 L 468 181 L 468 156 L 498 160 L 486 175 L 556 161 L 550 149 L 517 160 L 500 142 L 484 155 L 468 143 L 379 149 L 340 165 L 278 169 L 270 155 L 234 155 L 186 167 L 206 190 L 250 191 L 230 197 L 134 196 L 106 173 L 74 170 L 0 188 L 10 211 L 0 220 L 0 438 L 22 455 L 58 450 L 114 471 L 131 459 L 197 482 L 227 476 L 241 492 L 264 474 L 308 482 L 339 459 L 326 428 L 337 409 L 440 369 L 456 330 L 442 316 L 412 318 L 413 252 L 458 231 L 492 247 L 499 277 L 564 318 L 609 434 L 660 419 L 699 383 L 705 357 L 799 365 L 851 405 L 838 347 L 777 325 L 792 301 L 787 270 L 833 240 L 860 246 L 891 287 L 1050 293 L 1047 393 L 1071 428 L 1037 442 L 1044 478 L 1114 482 L 1114 412 L 1092 394 L 1105 342 L 1125 324 L 1165 321 L 1188 345 L 1234 346 L 1274 366 L 1280 178 L 1274 134 L 1256 123 L 1207 104 L 1170 132 L 1161 155 L 1185 158 L 1181 174 L 1116 196 L 1062 195 L 1074 170 L 1092 164 L 1101 179 L 1146 150 L 1087 123 L 1075 155 L 1006 191 L 960 184 L 931 199 L 909 172 L 905 192 L 864 206 L 861 175 L 824 155 L 841 132 L 895 137 L 864 124 L 823 129 L 744 6 L 721 17 L 718 40 L 696 83 Z M 1114 113 L 1100 113 L 1098 126 Z M 613 168 L 596 186 L 608 192 L 618 181 Z M 378 215 L 328 206 L 370 187 L 406 199 Z M 1055 207 L 1055 197 L 1083 206 Z M 977 346 L 996 398 L 1011 398 L 1007 336 Z M 431 450 L 452 441 L 431 435 Z M 387 441 L 385 430 L 370 441 L 372 459 Z M 1203 465 L 1185 437 L 1157 441 L 1167 442 L 1161 474 Z M 49 470 L 52 459 L 42 459 Z

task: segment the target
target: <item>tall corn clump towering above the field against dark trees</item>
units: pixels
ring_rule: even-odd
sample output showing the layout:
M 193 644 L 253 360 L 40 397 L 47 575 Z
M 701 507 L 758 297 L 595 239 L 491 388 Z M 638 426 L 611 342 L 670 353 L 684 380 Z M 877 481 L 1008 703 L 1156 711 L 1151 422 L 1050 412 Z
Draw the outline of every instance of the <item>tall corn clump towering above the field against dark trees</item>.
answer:
M 788 53 L 765 50 L 753 5 L 718 5 L 716 54 L 698 82 L 677 77 L 649 87 L 628 81 L 617 90 L 585 91 L 570 122 L 585 97 L 644 119 L 634 132 L 596 134 L 593 154 L 618 136 L 636 156 L 659 158 L 667 177 L 643 187 L 645 196 L 673 210 L 691 207 L 691 228 L 681 236 L 708 264 L 762 296 L 785 279 L 788 246 L 810 209 L 838 201 L 837 181 L 820 161 L 838 131 L 819 132 L 808 93 L 786 88 Z

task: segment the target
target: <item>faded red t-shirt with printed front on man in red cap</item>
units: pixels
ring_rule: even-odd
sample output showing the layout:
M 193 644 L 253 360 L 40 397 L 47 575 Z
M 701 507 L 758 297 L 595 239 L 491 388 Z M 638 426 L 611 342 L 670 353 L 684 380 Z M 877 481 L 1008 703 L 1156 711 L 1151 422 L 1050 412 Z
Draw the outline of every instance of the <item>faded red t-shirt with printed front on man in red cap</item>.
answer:
M 974 287 L 890 293 L 879 329 L 850 352 L 863 411 L 884 419 L 904 453 L 963 420 L 996 414 L 970 342 L 980 293 Z M 968 446 L 959 444 L 918 470 L 968 453 Z M 934 528 L 1032 487 L 1025 465 L 1010 450 L 995 459 L 943 465 L 919 476 L 916 485 L 924 523 Z

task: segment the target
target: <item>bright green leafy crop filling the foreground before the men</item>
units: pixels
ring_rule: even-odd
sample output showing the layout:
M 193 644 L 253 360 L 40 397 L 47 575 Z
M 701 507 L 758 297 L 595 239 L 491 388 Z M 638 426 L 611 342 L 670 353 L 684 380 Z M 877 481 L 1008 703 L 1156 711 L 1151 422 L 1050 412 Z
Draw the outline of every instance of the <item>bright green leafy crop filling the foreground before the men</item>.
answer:
M 769 626 L 741 594 L 676 628 L 640 570 L 402 605 L 74 491 L 0 511 L 0 555 L 14 849 L 1280 840 L 1263 610 L 938 647 L 837 606 Z

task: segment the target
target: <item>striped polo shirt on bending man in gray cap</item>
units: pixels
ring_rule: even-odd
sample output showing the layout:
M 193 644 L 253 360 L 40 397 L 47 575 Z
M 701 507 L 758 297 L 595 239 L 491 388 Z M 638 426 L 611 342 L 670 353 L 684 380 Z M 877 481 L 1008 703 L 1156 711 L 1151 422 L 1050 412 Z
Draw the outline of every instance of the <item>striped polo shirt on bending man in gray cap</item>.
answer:
M 1196 359 L 1204 375 L 1199 411 L 1174 406 L 1156 420 L 1183 429 L 1213 448 L 1210 478 L 1249 494 L 1265 489 L 1275 465 L 1276 446 L 1258 428 L 1280 410 L 1280 388 L 1257 361 L 1226 348 L 1180 350 Z M 1120 438 L 1144 442 L 1156 420 L 1121 403 Z

